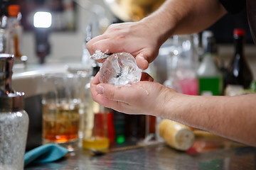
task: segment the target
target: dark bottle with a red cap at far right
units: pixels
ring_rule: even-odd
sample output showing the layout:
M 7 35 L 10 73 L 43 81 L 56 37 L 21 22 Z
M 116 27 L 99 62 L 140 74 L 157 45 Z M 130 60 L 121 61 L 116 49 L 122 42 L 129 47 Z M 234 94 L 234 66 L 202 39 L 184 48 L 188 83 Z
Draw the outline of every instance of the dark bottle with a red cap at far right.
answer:
M 227 73 L 225 74 L 225 88 L 229 85 L 242 86 L 248 89 L 252 82 L 252 72 L 245 59 L 245 30 L 234 30 L 235 55 L 230 62 Z

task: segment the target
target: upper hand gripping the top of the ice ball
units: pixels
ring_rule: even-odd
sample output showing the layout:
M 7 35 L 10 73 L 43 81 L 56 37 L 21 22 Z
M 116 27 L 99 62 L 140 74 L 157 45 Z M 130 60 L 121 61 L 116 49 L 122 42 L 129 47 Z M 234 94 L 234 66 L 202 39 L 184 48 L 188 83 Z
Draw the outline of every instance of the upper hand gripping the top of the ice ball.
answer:
M 87 42 L 90 54 L 96 50 L 104 53 L 129 52 L 136 58 L 140 69 L 149 67 L 158 55 L 160 47 L 156 30 L 142 21 L 136 23 L 112 24 L 105 33 Z M 103 62 L 104 60 L 97 60 Z

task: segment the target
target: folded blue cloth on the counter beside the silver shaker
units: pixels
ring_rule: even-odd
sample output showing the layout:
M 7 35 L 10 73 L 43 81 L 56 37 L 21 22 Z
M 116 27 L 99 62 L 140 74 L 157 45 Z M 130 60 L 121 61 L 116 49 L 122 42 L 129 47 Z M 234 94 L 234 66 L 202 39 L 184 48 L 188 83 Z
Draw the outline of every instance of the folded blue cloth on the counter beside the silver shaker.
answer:
M 68 153 L 68 149 L 58 145 L 47 144 L 32 149 L 24 155 L 24 166 L 31 162 L 45 163 L 54 162 Z

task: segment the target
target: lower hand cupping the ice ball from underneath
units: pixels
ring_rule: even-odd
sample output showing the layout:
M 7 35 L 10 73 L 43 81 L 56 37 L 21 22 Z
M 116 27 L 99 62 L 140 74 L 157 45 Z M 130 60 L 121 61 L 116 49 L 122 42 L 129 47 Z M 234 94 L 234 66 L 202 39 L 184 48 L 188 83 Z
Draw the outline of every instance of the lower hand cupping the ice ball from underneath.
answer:
M 144 80 L 144 81 L 143 81 Z M 170 93 L 176 91 L 159 83 L 144 73 L 142 81 L 131 86 L 114 86 L 112 84 L 100 84 L 99 73 L 90 84 L 92 98 L 107 108 L 130 114 L 146 114 L 160 116 L 164 105 L 172 97 Z

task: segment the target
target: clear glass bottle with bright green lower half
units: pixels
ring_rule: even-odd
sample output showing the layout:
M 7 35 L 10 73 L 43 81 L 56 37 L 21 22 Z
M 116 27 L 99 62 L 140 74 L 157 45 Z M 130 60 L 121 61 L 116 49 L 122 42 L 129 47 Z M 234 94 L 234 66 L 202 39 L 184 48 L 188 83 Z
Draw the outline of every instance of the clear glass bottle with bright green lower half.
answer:
M 215 61 L 215 38 L 213 32 L 203 32 L 204 57 L 198 67 L 199 95 L 218 96 L 222 91 L 222 75 Z

